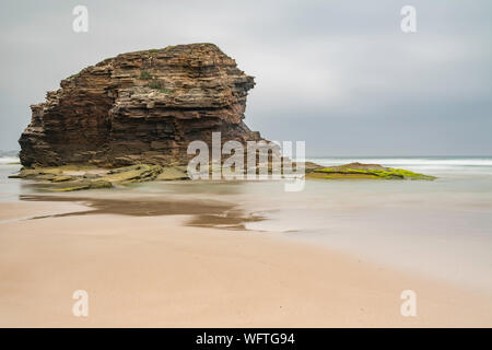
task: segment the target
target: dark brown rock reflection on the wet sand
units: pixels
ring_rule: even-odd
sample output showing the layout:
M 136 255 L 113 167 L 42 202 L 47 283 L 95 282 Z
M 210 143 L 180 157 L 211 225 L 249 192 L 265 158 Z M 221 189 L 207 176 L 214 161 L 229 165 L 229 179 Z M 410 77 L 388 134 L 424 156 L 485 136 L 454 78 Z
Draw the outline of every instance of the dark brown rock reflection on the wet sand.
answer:
M 247 213 L 233 203 L 206 200 L 110 199 L 44 195 L 21 195 L 20 200 L 77 202 L 89 207 L 85 211 L 33 217 L 31 218 L 33 220 L 87 214 L 120 214 L 131 217 L 191 215 L 191 219 L 187 222 L 187 225 L 190 226 L 246 230 L 246 222 L 261 221 L 265 219 L 253 213 Z

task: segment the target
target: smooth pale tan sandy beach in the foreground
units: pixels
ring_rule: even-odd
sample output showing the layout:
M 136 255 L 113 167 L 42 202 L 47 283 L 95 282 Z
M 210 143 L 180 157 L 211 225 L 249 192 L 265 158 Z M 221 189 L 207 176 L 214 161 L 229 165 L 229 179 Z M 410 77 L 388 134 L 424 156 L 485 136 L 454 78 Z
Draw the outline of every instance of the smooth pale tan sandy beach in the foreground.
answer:
M 179 214 L 50 217 L 86 210 L 0 202 L 0 326 L 492 326 L 490 293 L 274 233 L 189 226 Z M 400 314 L 408 289 L 417 317 Z M 87 317 L 72 314 L 75 290 L 89 294 Z

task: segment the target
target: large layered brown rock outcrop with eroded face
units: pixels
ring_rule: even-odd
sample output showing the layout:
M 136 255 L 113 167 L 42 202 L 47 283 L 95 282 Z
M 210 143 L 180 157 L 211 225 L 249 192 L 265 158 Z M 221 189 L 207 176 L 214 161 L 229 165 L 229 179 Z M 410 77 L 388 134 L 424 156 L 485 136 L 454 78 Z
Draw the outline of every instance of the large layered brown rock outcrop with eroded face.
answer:
M 254 78 L 213 44 L 118 55 L 61 81 L 19 140 L 25 166 L 185 164 L 194 140 L 259 140 L 243 122 Z

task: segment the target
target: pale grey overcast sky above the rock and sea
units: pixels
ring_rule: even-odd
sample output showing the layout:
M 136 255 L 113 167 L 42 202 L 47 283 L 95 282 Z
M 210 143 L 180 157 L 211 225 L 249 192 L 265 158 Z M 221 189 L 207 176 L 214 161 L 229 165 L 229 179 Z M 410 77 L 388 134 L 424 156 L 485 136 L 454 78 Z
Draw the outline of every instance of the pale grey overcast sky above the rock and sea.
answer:
M 72 9 L 89 9 L 89 32 Z M 417 33 L 400 10 L 417 9 Z M 214 43 L 255 75 L 246 124 L 308 155 L 491 155 L 492 2 L 11 1 L 0 4 L 0 149 L 59 81 L 120 52 Z

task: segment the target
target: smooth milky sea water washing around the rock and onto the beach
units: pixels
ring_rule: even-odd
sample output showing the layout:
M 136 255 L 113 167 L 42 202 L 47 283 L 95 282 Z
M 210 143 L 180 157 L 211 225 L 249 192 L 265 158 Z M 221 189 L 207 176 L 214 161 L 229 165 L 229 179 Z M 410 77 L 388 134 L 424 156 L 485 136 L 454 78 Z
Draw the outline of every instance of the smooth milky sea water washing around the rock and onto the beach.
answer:
M 492 293 L 492 158 L 308 161 L 327 166 L 376 163 L 437 179 L 308 180 L 298 192 L 284 191 L 281 182 L 145 183 L 97 196 L 229 202 L 241 208 L 245 217 L 261 219 L 244 222 L 251 232 L 324 245 L 360 259 Z M 7 178 L 20 166 L 5 163 L 0 160 L 0 200 L 36 192 L 30 182 Z

